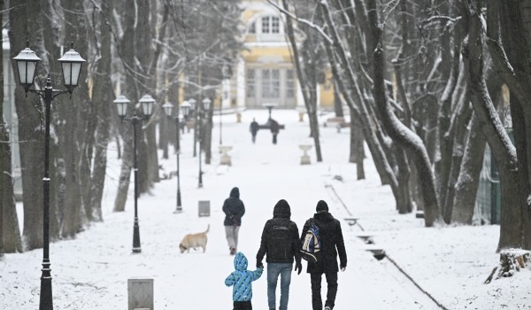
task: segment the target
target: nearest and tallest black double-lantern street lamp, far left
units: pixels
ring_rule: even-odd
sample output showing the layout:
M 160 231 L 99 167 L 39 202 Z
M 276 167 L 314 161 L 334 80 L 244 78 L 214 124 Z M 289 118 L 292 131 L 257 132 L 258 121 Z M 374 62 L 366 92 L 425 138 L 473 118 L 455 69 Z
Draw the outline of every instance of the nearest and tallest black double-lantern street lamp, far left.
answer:
M 35 55 L 35 51 L 27 48 L 20 51 L 17 57 L 13 58 L 17 61 L 17 68 L 19 69 L 19 83 L 27 92 L 33 92 L 42 99 L 45 104 L 46 114 L 46 129 L 44 136 L 44 177 L 42 178 L 42 275 L 41 275 L 41 298 L 39 302 L 39 310 L 52 310 L 53 298 L 51 294 L 51 269 L 50 269 L 50 109 L 51 101 L 59 95 L 69 93 L 72 96 L 73 89 L 78 85 L 80 78 L 81 65 L 85 59 L 81 58 L 80 54 L 72 49 L 65 52 L 63 57 L 58 61 L 61 63 L 63 69 L 64 85 L 67 90 L 53 89 L 51 87 L 50 76 L 46 78 L 46 87 L 44 89 L 29 89 L 35 81 L 35 70 L 41 58 Z

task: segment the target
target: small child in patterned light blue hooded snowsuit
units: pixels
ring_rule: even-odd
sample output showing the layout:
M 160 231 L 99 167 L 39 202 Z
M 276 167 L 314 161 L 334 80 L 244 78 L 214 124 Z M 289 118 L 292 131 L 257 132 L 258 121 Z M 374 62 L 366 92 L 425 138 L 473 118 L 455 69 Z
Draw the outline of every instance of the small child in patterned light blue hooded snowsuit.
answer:
M 225 279 L 225 285 L 233 286 L 234 310 L 251 310 L 252 298 L 251 282 L 258 280 L 264 271 L 263 267 L 255 271 L 247 270 L 247 258 L 242 252 L 237 252 L 235 256 L 235 271 Z

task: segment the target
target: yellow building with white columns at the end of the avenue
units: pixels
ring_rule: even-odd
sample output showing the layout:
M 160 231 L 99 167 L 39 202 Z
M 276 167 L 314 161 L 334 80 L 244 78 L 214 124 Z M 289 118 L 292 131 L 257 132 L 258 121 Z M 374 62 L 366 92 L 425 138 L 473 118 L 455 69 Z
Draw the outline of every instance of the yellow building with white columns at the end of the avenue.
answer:
M 283 14 L 264 0 L 242 1 L 244 50 L 233 70 L 232 81 L 224 83 L 224 108 L 253 109 L 263 108 L 265 104 L 277 108 L 304 107 L 289 40 L 284 33 L 284 19 Z M 319 86 L 319 108 L 333 108 L 331 85 L 327 79 Z

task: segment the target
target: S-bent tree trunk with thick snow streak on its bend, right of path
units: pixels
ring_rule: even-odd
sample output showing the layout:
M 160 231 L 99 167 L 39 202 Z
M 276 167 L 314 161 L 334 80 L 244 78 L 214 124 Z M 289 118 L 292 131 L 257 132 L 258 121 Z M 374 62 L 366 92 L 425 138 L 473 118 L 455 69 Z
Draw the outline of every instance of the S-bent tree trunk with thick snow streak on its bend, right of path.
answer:
M 432 227 L 440 218 L 439 204 L 435 190 L 435 178 L 431 170 L 431 162 L 427 156 L 426 147 L 419 136 L 412 133 L 396 118 L 386 97 L 386 87 L 384 81 L 384 61 L 383 45 L 381 41 L 382 28 L 378 17 L 378 11 L 375 2 L 369 3 L 369 24 L 372 27 L 374 46 L 373 53 L 373 97 L 376 106 L 380 112 L 381 122 L 389 133 L 389 136 L 404 150 L 412 154 L 413 160 L 417 166 L 419 177 L 422 184 L 422 193 L 426 203 L 425 225 Z

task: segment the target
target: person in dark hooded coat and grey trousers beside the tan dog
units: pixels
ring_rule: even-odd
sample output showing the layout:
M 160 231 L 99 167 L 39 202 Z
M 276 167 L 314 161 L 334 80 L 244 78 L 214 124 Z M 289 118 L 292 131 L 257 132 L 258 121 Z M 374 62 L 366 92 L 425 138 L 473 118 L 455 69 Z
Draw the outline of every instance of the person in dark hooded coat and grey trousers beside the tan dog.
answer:
M 223 203 L 225 213 L 225 235 L 227 236 L 228 249 L 230 255 L 235 255 L 238 249 L 238 232 L 242 226 L 242 216 L 245 214 L 245 205 L 240 199 L 240 190 L 235 187 L 230 190 L 229 198 Z

